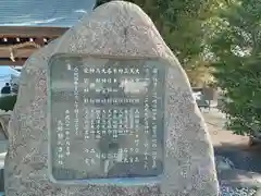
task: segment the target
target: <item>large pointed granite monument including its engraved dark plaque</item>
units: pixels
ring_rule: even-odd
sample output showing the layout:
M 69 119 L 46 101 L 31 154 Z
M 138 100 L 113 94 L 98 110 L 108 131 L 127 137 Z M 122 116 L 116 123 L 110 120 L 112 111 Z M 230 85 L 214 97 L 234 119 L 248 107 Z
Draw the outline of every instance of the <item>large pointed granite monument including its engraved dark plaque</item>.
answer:
M 188 78 L 132 3 L 97 8 L 26 61 L 9 134 L 7 196 L 217 196 Z

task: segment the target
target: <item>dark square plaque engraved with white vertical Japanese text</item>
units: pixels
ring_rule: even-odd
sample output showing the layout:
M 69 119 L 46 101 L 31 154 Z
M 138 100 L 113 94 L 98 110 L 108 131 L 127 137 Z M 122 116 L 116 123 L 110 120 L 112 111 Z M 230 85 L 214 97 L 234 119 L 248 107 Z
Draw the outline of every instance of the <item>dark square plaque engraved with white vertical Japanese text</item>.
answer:
M 163 173 L 166 65 L 60 54 L 49 62 L 49 170 L 55 181 Z

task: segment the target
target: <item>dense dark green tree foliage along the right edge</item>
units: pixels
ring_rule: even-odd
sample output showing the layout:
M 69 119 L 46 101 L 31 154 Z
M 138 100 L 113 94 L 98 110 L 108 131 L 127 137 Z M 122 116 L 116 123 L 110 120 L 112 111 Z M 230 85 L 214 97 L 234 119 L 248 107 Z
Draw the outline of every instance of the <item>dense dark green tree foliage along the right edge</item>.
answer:
M 229 2 L 212 37 L 212 66 L 225 91 L 227 126 L 236 134 L 261 131 L 261 1 Z

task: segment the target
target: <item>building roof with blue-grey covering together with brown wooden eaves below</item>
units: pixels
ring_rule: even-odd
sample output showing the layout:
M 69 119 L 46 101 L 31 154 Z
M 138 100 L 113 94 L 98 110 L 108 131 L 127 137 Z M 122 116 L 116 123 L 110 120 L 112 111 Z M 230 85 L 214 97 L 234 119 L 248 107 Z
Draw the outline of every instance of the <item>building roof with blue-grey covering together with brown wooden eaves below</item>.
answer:
M 1 0 L 0 65 L 24 64 L 39 47 L 58 38 L 88 14 L 96 1 Z M 36 47 L 28 47 L 29 44 Z

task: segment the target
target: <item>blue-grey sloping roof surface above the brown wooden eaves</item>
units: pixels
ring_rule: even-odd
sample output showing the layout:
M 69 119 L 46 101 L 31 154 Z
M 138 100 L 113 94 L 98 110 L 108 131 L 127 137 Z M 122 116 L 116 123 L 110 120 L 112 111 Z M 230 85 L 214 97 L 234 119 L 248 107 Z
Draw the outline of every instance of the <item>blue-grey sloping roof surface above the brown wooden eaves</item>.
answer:
M 1 0 L 0 26 L 70 27 L 96 0 Z

